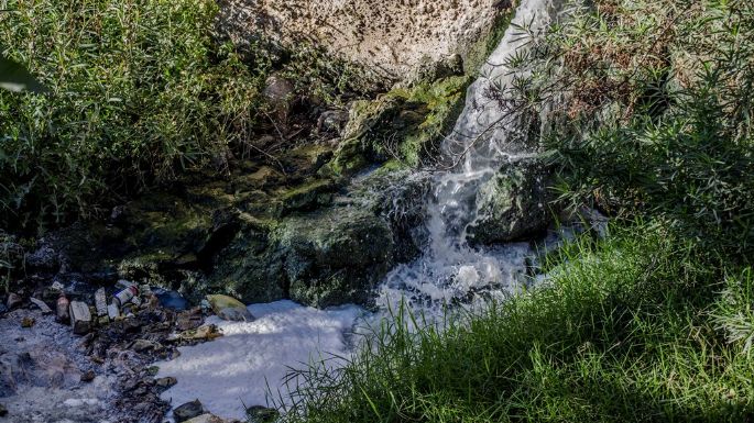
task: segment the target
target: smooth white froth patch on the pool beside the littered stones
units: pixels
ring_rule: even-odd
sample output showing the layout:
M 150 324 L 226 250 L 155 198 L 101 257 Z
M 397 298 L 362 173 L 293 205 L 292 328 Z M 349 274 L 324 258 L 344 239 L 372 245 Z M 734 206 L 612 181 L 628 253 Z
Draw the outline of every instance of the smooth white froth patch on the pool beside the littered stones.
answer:
M 283 379 L 291 368 L 312 360 L 348 356 L 346 339 L 364 314 L 356 305 L 317 310 L 292 301 L 249 305 L 253 322 L 227 322 L 216 316 L 223 336 L 182 347 L 181 356 L 159 363 L 157 377 L 173 376 L 178 383 L 162 394 L 173 407 L 199 399 L 205 409 L 222 418 L 243 419 L 244 404 L 267 405 L 267 383 L 285 394 Z M 338 360 L 328 361 L 337 366 Z

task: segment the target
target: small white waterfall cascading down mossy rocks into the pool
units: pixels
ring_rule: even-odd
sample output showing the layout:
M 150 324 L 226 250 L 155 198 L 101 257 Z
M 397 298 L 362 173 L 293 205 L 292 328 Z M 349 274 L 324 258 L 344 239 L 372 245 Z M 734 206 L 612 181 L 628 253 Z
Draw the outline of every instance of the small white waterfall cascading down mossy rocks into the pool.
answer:
M 516 113 L 507 111 L 494 93 L 522 76 L 522 70 L 506 66 L 531 40 L 522 36 L 521 27 L 535 33 L 546 29 L 559 8 L 558 0 L 522 0 L 514 24 L 469 88 L 465 110 L 442 145 L 442 154 L 456 163 L 431 179 L 426 219 L 428 245 L 420 258 L 387 275 L 379 307 L 395 310 L 402 299 L 424 310 L 456 301 L 473 303 L 477 299 L 504 297 L 525 280 L 526 261 L 533 253 L 528 243 L 472 247 L 467 242 L 467 230 L 478 216 L 476 197 L 480 186 L 506 160 L 533 155 Z

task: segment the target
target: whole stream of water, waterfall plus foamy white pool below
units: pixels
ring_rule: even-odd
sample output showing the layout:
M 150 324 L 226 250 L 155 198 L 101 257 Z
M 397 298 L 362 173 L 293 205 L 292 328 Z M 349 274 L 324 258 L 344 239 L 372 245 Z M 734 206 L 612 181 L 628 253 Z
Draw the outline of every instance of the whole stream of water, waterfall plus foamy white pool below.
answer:
M 538 31 L 557 9 L 555 0 L 523 0 L 514 22 Z M 352 345 L 345 335 L 396 310 L 398 302 L 437 315 L 446 304 L 468 307 L 504 298 L 525 283 L 527 259 L 534 253 L 528 243 L 472 247 L 467 242 L 467 232 L 478 219 L 479 187 L 506 160 L 532 154 L 522 142 L 526 134 L 516 114 L 506 113 L 500 99 L 491 96 L 513 79 L 515 74 L 505 64 L 525 43 L 512 25 L 469 88 L 466 108 L 442 146 L 444 154 L 458 163 L 431 179 L 427 245 L 420 258 L 387 275 L 378 298 L 381 311 L 369 314 L 356 307 L 321 311 L 283 301 L 251 305 L 258 316 L 251 323 L 215 320 L 225 337 L 182 348 L 181 357 L 160 365 L 160 376 L 178 380 L 163 398 L 174 405 L 199 398 L 211 412 L 241 419 L 244 404 L 265 404 L 267 386 L 273 392 L 278 387 L 285 390 L 281 378 L 289 366 L 305 367 L 325 353 L 350 354 Z

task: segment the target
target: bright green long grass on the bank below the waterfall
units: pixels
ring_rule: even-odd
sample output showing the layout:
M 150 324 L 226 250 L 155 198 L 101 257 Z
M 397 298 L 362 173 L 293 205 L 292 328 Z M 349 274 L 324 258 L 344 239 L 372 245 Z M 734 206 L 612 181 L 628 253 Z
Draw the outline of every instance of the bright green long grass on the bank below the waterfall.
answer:
M 693 263 L 658 227 L 582 237 L 546 286 L 441 331 L 397 319 L 345 369 L 305 374 L 286 421 L 747 421 L 754 279 Z

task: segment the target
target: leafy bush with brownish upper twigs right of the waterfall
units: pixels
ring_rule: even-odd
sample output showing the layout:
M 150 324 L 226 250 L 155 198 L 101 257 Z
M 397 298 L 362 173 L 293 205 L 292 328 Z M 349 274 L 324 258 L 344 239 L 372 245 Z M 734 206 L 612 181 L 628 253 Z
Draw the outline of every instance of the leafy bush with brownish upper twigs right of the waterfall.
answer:
M 599 0 L 571 12 L 528 34 L 533 48 L 511 65 L 532 73 L 503 88 L 549 114 L 561 200 L 652 215 L 747 259 L 754 3 Z

